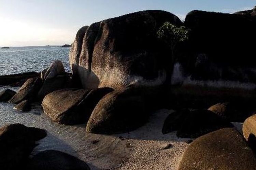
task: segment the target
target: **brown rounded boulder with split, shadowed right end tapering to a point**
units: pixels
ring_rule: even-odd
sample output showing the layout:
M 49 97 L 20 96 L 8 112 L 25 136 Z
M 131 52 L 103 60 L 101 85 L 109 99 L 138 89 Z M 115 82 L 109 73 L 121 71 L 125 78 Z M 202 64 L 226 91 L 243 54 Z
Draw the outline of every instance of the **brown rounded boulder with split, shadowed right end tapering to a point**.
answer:
M 88 121 L 99 100 L 111 91 L 111 88 L 61 89 L 48 94 L 42 106 L 44 113 L 55 122 L 82 124 Z

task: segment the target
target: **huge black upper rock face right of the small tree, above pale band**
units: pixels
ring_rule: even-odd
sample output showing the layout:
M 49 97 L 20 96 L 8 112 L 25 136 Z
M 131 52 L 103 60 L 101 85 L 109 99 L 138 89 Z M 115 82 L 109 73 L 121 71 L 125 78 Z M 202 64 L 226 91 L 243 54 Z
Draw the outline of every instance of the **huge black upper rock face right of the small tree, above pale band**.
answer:
M 185 27 L 189 28 L 190 55 L 182 66 L 194 80 L 220 81 L 218 86 L 256 82 L 255 53 L 256 20 L 237 14 L 191 11 Z M 244 87 L 242 87 L 244 88 Z

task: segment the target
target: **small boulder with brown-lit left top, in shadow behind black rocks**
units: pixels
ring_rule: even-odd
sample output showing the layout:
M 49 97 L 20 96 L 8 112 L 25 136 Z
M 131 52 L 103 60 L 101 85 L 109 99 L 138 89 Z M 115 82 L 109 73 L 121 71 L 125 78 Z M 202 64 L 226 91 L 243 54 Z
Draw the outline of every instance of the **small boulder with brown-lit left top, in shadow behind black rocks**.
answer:
M 240 108 L 240 105 L 241 103 L 217 103 L 209 107 L 208 110 L 231 122 L 243 122 L 251 112 L 247 111 L 249 106 L 242 105 L 244 107 Z

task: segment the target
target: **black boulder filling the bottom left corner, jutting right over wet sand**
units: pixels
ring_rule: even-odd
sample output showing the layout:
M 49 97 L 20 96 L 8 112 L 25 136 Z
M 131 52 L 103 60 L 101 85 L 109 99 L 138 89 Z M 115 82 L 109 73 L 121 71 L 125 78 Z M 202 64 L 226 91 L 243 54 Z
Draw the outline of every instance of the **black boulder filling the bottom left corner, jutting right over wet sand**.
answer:
M 10 124 L 0 128 L 1 169 L 20 169 L 36 146 L 35 141 L 46 136 L 45 130 Z

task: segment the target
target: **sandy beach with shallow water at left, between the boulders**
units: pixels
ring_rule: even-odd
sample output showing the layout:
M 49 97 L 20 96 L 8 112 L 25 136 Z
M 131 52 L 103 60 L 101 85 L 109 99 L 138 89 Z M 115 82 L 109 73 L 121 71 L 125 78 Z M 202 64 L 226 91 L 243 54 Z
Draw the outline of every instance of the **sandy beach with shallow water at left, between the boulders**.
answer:
M 33 105 L 27 113 L 18 112 L 13 106 L 0 103 L 0 126 L 22 123 L 47 130 L 47 136 L 38 141 L 32 155 L 44 150 L 59 150 L 84 160 L 92 170 L 175 170 L 188 146 L 186 141 L 189 139 L 177 138 L 175 132 L 161 133 L 163 122 L 172 110 L 162 109 L 153 113 L 148 122 L 135 131 L 99 135 L 86 133 L 85 124 L 66 126 L 53 122 L 39 104 Z

